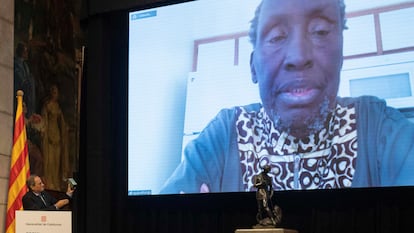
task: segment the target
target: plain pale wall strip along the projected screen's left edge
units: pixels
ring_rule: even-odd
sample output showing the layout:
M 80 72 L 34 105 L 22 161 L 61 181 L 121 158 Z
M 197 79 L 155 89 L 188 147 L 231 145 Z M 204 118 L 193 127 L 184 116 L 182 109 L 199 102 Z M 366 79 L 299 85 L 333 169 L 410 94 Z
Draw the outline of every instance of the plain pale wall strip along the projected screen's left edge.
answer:
M 177 17 L 162 9 L 157 17 L 130 22 L 129 190 L 157 193 L 179 161 L 173 155 L 181 153 L 185 77 L 193 52 L 187 22 L 186 13 Z

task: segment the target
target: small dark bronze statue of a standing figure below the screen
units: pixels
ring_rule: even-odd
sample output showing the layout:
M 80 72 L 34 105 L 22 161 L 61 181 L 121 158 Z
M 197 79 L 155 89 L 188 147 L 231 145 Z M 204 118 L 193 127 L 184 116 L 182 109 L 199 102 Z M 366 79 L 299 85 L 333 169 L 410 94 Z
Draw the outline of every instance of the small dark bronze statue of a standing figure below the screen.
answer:
M 263 171 L 254 176 L 254 187 L 256 187 L 256 200 L 258 212 L 256 220 L 258 224 L 255 228 L 274 227 L 280 223 L 282 219 L 282 210 L 279 206 L 273 205 L 272 196 L 272 179 L 268 175 L 270 166 L 265 165 Z

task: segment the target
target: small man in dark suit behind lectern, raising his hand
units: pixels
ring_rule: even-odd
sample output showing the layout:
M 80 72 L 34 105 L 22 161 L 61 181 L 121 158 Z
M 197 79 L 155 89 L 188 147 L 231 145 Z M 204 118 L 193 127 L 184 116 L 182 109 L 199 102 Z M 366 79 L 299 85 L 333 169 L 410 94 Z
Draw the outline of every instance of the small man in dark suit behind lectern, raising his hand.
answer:
M 45 184 L 38 175 L 31 175 L 26 182 L 29 191 L 23 196 L 24 210 L 59 210 L 69 204 L 75 188 L 68 184 L 67 198 L 57 200 L 45 192 Z

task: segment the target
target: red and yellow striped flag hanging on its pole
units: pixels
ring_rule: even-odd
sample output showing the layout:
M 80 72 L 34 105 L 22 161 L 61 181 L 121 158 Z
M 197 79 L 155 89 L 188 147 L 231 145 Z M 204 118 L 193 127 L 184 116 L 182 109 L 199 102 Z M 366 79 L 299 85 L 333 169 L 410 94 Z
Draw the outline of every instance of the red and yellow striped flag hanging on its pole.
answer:
M 13 148 L 10 160 L 9 195 L 7 200 L 6 233 L 15 233 L 15 211 L 23 209 L 22 197 L 27 192 L 26 180 L 30 175 L 29 150 L 23 114 L 23 91 L 17 91 L 17 109 L 14 125 Z

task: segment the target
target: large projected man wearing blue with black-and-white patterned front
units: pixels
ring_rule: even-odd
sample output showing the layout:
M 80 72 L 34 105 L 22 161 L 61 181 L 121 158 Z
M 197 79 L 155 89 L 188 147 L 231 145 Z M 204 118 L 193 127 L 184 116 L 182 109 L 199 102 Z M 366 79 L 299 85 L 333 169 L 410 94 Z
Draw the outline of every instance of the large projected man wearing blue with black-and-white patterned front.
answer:
M 251 22 L 261 102 L 222 110 L 162 193 L 414 185 L 414 124 L 376 97 L 337 96 L 343 0 L 263 0 Z

